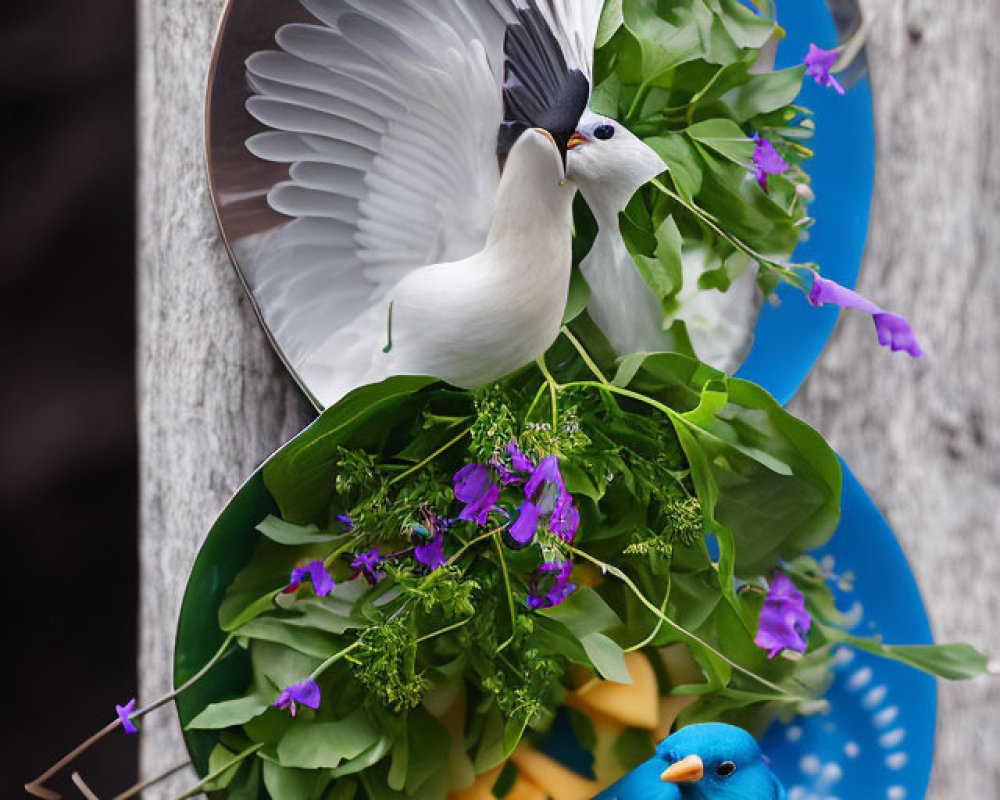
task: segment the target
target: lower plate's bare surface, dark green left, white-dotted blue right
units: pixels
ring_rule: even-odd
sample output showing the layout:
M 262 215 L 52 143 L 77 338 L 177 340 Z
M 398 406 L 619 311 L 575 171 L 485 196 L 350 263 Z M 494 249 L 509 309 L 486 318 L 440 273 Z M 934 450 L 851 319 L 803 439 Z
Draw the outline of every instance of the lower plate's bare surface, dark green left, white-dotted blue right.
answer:
M 853 589 L 839 594 L 840 607 L 856 615 L 860 633 L 878 632 L 890 643 L 931 643 L 923 601 L 896 538 L 846 465 L 842 504 L 833 544 L 817 554 L 841 578 L 853 576 Z M 175 685 L 220 647 L 216 620 L 226 587 L 250 559 L 259 536 L 254 526 L 276 511 L 258 471 L 209 533 L 181 608 Z M 248 660 L 242 651 L 228 657 L 179 698 L 181 725 L 208 703 L 245 691 Z M 828 698 L 828 714 L 775 725 L 764 742 L 789 800 L 923 797 L 934 752 L 934 680 L 845 649 Z M 206 774 L 215 736 L 191 731 L 185 740 L 199 773 Z M 557 755 L 579 768 L 578 757 Z

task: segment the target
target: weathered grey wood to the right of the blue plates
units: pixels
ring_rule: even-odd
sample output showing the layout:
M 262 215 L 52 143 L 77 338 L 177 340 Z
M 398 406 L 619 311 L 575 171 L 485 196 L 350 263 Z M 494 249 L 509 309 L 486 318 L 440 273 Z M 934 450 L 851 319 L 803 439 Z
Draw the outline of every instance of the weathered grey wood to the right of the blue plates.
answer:
M 1000 2 L 864 6 L 878 157 L 860 288 L 928 355 L 844 315 L 792 410 L 885 513 L 938 640 L 1000 653 Z M 927 796 L 1000 796 L 1000 684 L 942 683 L 939 708 Z

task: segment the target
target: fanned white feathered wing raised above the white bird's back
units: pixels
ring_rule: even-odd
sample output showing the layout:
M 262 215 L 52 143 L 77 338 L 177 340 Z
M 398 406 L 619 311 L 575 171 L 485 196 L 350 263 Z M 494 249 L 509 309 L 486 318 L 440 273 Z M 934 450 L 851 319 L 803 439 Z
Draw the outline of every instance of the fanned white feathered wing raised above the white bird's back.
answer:
M 268 128 L 247 147 L 290 165 L 268 201 L 293 219 L 244 271 L 293 369 L 410 271 L 482 249 L 499 183 L 505 82 L 508 99 L 516 96 L 505 45 L 521 32 L 515 92 L 562 102 L 550 97 L 565 88 L 555 80 L 560 65 L 585 75 L 589 92 L 602 6 L 301 2 L 316 22 L 280 28 L 280 50 L 246 64 L 247 109 Z M 548 36 L 531 34 L 538 28 Z M 546 122 L 536 113 L 529 108 L 522 127 Z

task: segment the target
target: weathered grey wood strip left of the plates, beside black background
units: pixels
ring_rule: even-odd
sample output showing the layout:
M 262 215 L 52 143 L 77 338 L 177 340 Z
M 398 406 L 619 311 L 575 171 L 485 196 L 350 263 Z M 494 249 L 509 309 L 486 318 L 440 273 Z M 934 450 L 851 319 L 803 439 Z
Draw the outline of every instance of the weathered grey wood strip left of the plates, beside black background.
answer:
M 307 421 L 218 236 L 204 94 L 221 0 L 140 0 L 141 697 L 171 686 L 194 556 L 233 491 Z M 143 774 L 186 756 L 172 707 L 144 725 Z M 150 790 L 176 796 L 193 776 Z

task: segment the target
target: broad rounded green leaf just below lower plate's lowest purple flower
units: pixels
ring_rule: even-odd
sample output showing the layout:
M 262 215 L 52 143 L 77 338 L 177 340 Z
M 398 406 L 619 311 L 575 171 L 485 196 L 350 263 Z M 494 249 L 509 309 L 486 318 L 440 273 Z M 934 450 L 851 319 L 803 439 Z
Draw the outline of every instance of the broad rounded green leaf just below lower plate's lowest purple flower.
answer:
M 297 720 L 278 743 L 278 762 L 299 769 L 335 769 L 378 739 L 364 709 L 336 722 Z

